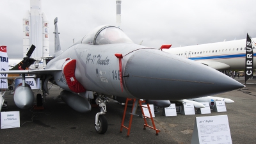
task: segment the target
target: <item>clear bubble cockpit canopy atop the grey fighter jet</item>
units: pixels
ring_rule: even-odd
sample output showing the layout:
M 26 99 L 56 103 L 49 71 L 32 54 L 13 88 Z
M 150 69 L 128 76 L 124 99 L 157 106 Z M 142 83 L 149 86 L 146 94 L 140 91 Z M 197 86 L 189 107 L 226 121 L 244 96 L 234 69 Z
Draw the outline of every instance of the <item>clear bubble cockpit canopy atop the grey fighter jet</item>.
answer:
M 84 36 L 83 44 L 104 45 L 104 44 L 120 44 L 133 43 L 125 33 L 115 26 L 99 26 L 88 35 Z

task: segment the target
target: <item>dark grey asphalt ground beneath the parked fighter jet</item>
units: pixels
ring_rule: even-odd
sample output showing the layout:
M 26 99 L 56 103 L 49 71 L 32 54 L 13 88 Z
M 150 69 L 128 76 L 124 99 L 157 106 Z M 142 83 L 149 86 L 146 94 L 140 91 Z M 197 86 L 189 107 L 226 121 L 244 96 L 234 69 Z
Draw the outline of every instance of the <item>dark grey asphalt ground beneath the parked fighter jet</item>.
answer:
M 243 83 L 244 77 L 237 81 Z M 155 113 L 156 131 L 143 130 L 143 118 L 133 116 L 131 132 L 127 138 L 127 130 L 120 133 L 124 106 L 111 100 L 107 104 L 106 118 L 108 131 L 105 134 L 95 132 L 95 114 L 99 108 L 92 108 L 90 113 L 78 113 L 60 99 L 54 100 L 61 89 L 52 86 L 47 95 L 43 110 L 19 109 L 15 106 L 13 95 L 6 95 L 8 109 L 3 111 L 20 111 L 20 128 L 0 129 L 0 143 L 191 143 L 195 118 L 198 116 L 228 115 L 232 143 L 255 143 L 256 141 L 256 80 L 249 79 L 248 90 L 234 90 L 221 93 L 216 97 L 226 97 L 235 101 L 226 104 L 227 112 L 211 114 L 163 116 Z M 186 90 L 186 88 L 184 88 Z M 35 91 L 35 95 L 39 93 Z M 125 125 L 128 126 L 129 112 L 127 108 Z M 138 111 L 139 112 L 139 111 Z M 148 124 L 150 121 L 148 120 Z

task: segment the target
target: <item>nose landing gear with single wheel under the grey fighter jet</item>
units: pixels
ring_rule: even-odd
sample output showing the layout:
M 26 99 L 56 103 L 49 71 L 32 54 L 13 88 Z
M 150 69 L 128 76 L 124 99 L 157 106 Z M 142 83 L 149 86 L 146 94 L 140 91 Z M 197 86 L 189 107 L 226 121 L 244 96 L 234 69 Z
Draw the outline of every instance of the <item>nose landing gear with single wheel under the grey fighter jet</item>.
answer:
M 104 114 L 107 112 L 106 103 L 109 102 L 109 99 L 104 95 L 99 95 L 95 101 L 100 107 L 100 112 L 95 115 L 95 131 L 104 134 L 108 130 L 108 120 Z

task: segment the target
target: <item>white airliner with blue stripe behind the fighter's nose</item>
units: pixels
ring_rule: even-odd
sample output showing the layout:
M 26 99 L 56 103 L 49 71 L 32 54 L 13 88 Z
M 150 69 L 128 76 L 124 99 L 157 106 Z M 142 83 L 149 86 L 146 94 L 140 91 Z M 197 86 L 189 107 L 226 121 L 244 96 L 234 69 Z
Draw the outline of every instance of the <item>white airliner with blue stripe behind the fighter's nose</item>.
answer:
M 252 38 L 252 43 L 255 44 L 255 42 L 256 38 Z M 216 70 L 241 70 L 245 68 L 245 46 L 246 39 L 243 39 L 175 47 L 163 49 L 163 51 L 198 61 Z M 255 49 L 255 45 L 253 45 L 253 49 Z M 256 52 L 253 56 L 255 55 Z M 254 59 L 253 62 L 253 67 L 255 67 L 256 60 Z

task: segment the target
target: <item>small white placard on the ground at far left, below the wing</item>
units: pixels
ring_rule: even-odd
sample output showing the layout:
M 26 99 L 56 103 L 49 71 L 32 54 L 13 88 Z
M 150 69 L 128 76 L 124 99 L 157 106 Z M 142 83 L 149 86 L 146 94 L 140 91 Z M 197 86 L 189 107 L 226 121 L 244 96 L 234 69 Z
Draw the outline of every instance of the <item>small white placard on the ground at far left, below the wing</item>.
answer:
M 20 127 L 20 112 L 1 112 L 1 129 Z

